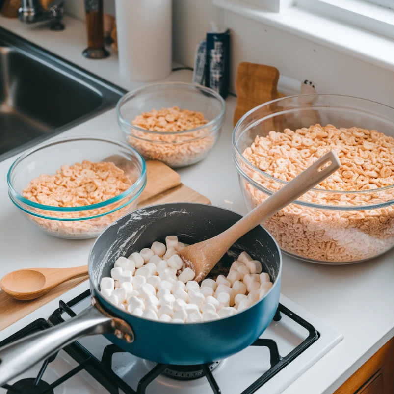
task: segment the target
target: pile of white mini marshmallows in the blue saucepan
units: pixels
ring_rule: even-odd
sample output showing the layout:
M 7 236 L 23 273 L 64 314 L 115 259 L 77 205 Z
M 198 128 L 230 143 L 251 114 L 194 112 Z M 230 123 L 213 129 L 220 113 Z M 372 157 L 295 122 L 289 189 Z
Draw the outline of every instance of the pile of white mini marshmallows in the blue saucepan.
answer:
M 101 294 L 132 315 L 171 323 L 194 323 L 227 317 L 249 308 L 272 287 L 262 264 L 242 252 L 232 264 L 227 278 L 219 275 L 193 281 L 195 273 L 184 268 L 176 254 L 186 244 L 177 236 L 167 236 L 164 245 L 119 257 L 111 278 L 100 282 Z

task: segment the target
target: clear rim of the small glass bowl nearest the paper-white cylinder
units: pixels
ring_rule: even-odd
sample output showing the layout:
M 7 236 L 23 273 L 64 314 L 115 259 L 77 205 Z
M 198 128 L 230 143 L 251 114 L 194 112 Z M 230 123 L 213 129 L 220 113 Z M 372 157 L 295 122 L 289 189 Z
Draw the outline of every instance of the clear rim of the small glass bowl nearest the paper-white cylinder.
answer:
M 207 93 L 210 93 L 216 100 L 218 100 L 221 104 L 221 110 L 219 115 L 217 115 L 215 118 L 210 120 L 208 123 L 205 125 L 201 125 L 199 127 L 196 127 L 194 129 L 189 129 L 185 131 L 153 131 L 153 130 L 147 130 L 147 129 L 142 129 L 138 126 L 132 125 L 129 121 L 123 118 L 123 116 L 120 113 L 120 108 L 121 106 L 129 99 L 132 95 L 136 93 L 140 93 L 146 89 L 152 88 L 152 87 L 173 87 L 173 86 L 180 86 L 182 88 L 187 87 L 187 88 L 199 88 L 200 90 L 203 90 Z M 149 85 L 141 86 L 137 89 L 131 90 L 130 92 L 126 93 L 123 97 L 121 97 L 118 102 L 116 103 L 116 116 L 118 118 L 118 123 L 121 127 L 128 127 L 137 131 L 143 131 L 147 134 L 157 134 L 157 135 L 179 135 L 179 134 L 185 134 L 188 132 L 192 131 L 198 131 L 205 129 L 207 127 L 210 127 L 212 125 L 215 125 L 224 117 L 224 114 L 226 112 L 226 102 L 224 101 L 223 97 L 220 96 L 219 93 L 215 92 L 213 89 L 210 89 L 209 87 L 199 85 L 197 83 L 191 83 L 191 82 L 159 82 L 159 83 L 151 83 Z M 223 122 L 222 122 L 223 123 Z M 217 128 L 217 127 L 216 127 Z M 130 134 L 130 132 L 127 132 Z M 147 140 L 148 141 L 148 140 Z

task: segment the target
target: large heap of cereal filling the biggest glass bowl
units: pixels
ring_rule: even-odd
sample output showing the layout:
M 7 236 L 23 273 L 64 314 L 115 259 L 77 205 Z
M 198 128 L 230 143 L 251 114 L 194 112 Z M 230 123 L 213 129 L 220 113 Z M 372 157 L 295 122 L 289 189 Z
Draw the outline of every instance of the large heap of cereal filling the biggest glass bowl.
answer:
M 283 250 L 308 260 L 345 263 L 382 254 L 394 245 L 394 207 L 362 210 L 362 205 L 394 200 L 393 188 L 381 189 L 394 184 L 394 138 L 376 130 L 316 124 L 257 136 L 243 156 L 266 174 L 289 181 L 331 149 L 337 152 L 341 168 L 316 186 L 321 192 L 310 191 L 300 200 L 360 209 L 327 210 L 290 204 L 263 225 Z M 245 171 L 272 191 L 283 185 L 246 166 Z M 250 208 L 268 197 L 243 178 L 241 184 Z M 353 193 L 346 193 L 350 191 Z

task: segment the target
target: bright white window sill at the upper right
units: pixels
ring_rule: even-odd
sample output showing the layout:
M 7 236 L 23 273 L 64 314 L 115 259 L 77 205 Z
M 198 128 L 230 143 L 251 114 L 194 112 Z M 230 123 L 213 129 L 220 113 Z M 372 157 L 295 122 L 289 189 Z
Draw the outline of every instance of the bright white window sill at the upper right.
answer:
M 394 41 L 362 28 L 293 6 L 276 13 L 241 0 L 213 0 L 224 10 L 394 71 Z

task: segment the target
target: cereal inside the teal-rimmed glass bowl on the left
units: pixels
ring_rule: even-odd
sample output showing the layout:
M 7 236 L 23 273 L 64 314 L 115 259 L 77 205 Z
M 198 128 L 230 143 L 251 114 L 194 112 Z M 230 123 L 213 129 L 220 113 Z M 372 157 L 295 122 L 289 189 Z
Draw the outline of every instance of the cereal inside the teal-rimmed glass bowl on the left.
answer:
M 53 207 L 85 207 L 109 200 L 123 193 L 132 185 L 123 170 L 112 162 L 93 163 L 83 160 L 73 165 L 64 164 L 54 175 L 41 174 L 26 185 L 23 197 L 38 204 Z M 123 202 L 124 203 L 124 202 Z M 52 212 L 45 210 L 46 216 L 77 219 L 103 214 L 116 209 L 119 202 L 92 210 L 75 212 Z M 28 215 L 29 219 L 48 233 L 74 237 L 78 235 L 98 235 L 117 218 L 131 210 L 126 206 L 104 216 L 88 220 L 51 220 Z

